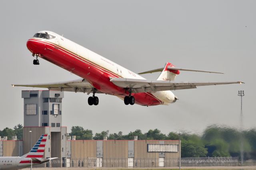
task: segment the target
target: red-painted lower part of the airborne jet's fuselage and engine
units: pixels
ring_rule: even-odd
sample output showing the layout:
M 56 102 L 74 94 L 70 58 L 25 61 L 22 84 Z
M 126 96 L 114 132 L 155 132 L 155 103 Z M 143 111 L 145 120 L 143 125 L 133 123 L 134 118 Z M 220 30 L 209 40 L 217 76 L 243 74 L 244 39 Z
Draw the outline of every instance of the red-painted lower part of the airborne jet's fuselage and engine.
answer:
M 120 75 L 77 56 L 74 53 L 63 49 L 63 47 L 38 39 L 29 39 L 27 47 L 30 51 L 41 54 L 43 59 L 88 80 L 92 86 L 102 93 L 122 97 L 128 96 L 127 90 L 124 90 L 124 88 L 118 87 L 109 81 L 109 77 L 121 77 Z M 136 104 L 146 106 L 162 104 L 162 102 L 151 93 L 136 93 L 132 95 L 135 98 Z

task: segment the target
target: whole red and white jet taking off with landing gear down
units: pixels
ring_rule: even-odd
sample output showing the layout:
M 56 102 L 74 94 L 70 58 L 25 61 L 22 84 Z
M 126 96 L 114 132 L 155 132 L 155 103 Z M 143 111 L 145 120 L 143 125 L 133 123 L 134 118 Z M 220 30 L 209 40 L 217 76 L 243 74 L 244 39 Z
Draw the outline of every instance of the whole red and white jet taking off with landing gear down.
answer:
M 142 106 L 168 105 L 178 99 L 170 90 L 196 88 L 197 86 L 219 84 L 242 84 L 243 82 L 178 82 L 174 81 L 180 70 L 209 72 L 176 68 L 166 63 L 164 68 L 150 70 L 138 74 L 161 72 L 157 80 L 146 80 L 142 76 L 78 45 L 52 31 L 40 31 L 28 39 L 27 47 L 32 56 L 36 57 L 33 64 L 38 65 L 38 57 L 64 68 L 81 77 L 79 80 L 48 83 L 48 84 L 13 84 L 48 88 L 49 90 L 83 92 L 90 94 L 89 105 L 98 105 L 96 93 L 117 96 L 124 104 Z M 220 72 L 210 72 L 220 73 Z M 223 74 L 223 73 L 222 73 Z

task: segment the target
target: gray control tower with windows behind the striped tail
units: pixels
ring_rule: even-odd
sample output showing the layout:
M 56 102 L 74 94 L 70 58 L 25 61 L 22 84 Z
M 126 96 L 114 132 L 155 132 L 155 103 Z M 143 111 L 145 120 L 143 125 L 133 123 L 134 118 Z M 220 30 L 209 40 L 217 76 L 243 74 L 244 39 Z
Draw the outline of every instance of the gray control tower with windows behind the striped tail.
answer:
M 39 137 L 47 133 L 44 157 L 65 158 L 67 127 L 62 126 L 64 92 L 26 90 L 22 91 L 22 98 L 24 98 L 23 152 L 28 153 Z M 52 165 L 61 167 L 62 159 L 59 164 Z

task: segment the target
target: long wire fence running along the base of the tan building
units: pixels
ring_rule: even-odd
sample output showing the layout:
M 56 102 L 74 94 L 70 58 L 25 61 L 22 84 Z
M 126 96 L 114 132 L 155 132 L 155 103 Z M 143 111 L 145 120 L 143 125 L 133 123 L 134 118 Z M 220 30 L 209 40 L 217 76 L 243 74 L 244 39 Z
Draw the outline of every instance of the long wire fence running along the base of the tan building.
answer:
M 66 166 L 65 159 L 55 159 L 51 161 L 53 167 Z M 174 167 L 179 165 L 179 159 L 166 158 L 84 158 L 70 159 L 70 167 Z M 254 160 L 245 161 L 246 165 L 255 165 Z M 239 166 L 237 157 L 216 157 L 216 158 L 182 158 L 181 166 Z M 49 162 L 46 163 L 49 167 Z

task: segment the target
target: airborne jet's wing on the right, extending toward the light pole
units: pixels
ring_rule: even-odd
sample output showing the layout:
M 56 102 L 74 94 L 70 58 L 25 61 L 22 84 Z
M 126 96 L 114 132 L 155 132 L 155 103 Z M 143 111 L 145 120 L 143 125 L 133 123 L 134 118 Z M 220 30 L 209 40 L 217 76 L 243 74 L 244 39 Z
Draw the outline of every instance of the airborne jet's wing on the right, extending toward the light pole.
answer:
M 133 78 L 111 78 L 110 82 L 122 88 L 132 88 L 134 93 L 157 92 L 164 90 L 182 90 L 196 88 L 197 86 L 210 86 L 220 84 L 242 84 L 244 82 L 177 82 L 164 80 L 142 80 Z

